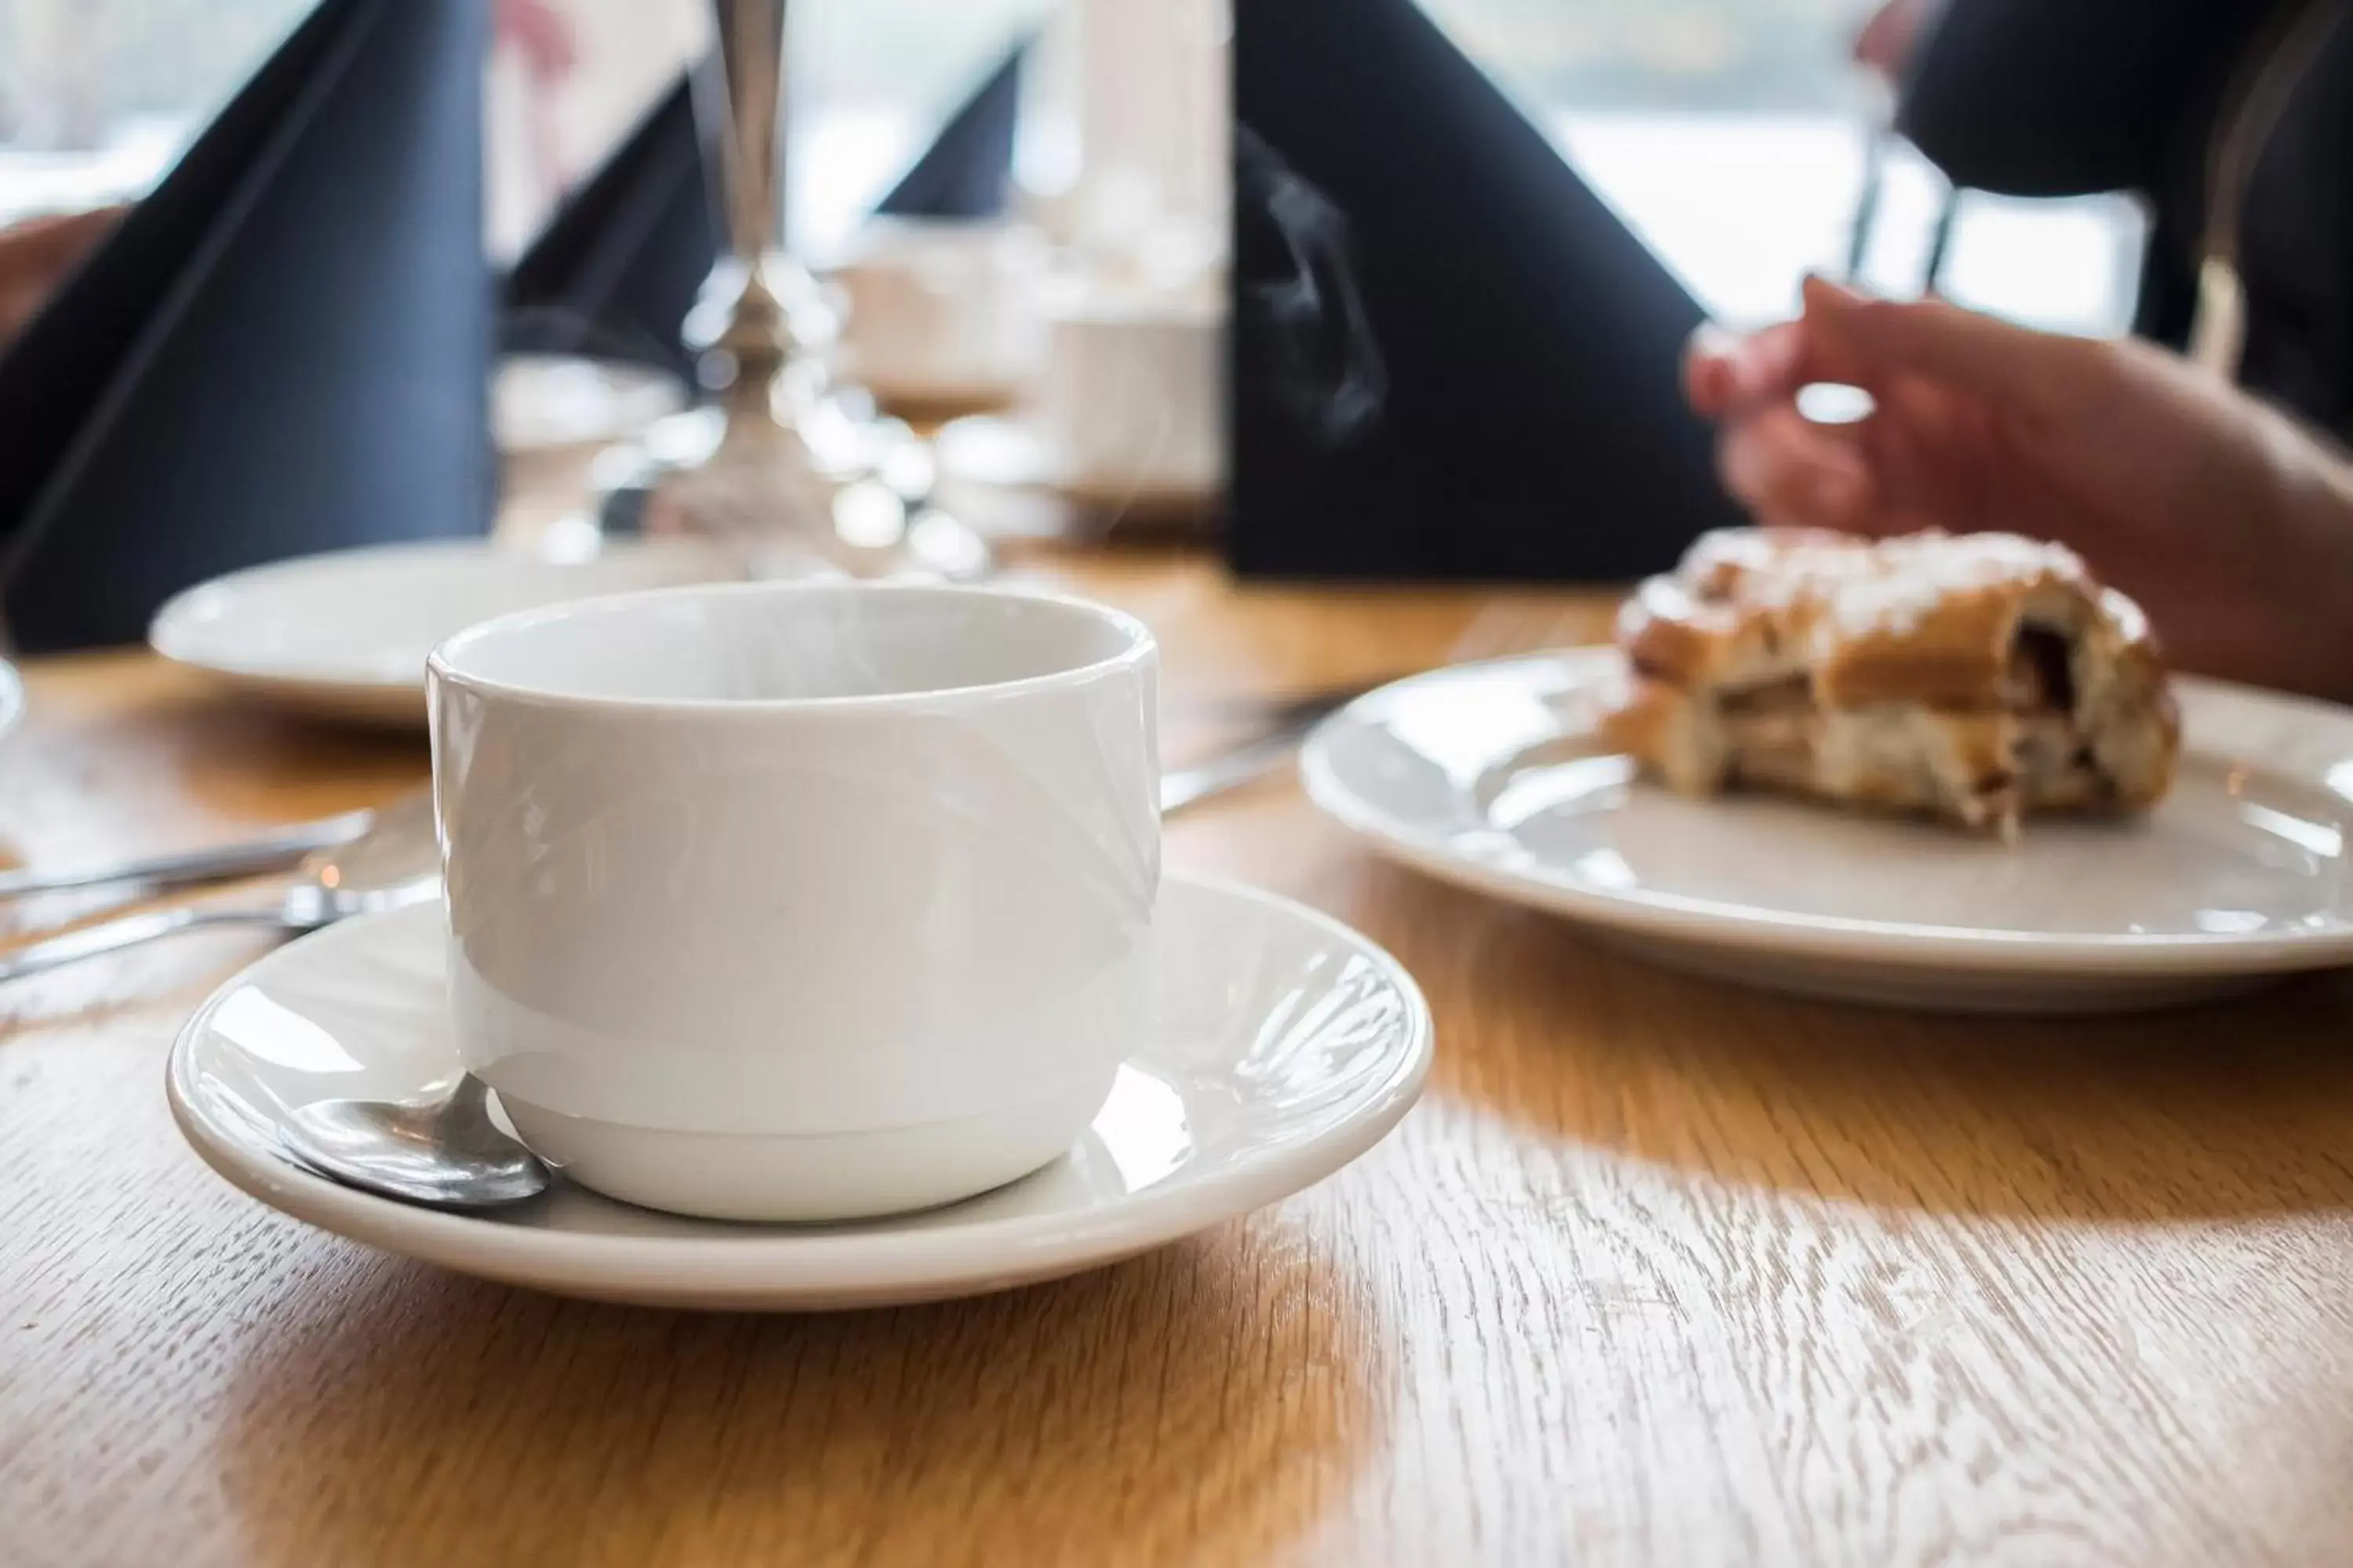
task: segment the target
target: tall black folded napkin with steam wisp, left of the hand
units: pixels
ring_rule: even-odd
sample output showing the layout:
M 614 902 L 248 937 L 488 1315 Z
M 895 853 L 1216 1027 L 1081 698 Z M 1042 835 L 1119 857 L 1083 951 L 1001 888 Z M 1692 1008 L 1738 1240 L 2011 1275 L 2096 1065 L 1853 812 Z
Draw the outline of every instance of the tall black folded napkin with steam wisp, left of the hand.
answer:
M 1412 0 L 1238 0 L 1240 571 L 1631 578 L 1737 520 L 1701 310 Z

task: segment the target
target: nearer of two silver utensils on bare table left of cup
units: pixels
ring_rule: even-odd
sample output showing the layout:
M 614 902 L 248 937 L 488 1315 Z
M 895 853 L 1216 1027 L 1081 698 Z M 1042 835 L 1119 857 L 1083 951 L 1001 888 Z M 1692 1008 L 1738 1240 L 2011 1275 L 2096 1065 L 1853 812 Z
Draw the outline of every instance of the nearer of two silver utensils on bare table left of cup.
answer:
M 339 849 L 304 858 L 299 879 L 278 903 L 252 907 L 191 907 L 125 914 L 96 926 L 52 936 L 0 957 L 0 980 L 35 976 L 59 964 L 122 952 L 181 931 L 209 926 L 275 926 L 287 933 L 318 931 L 351 914 L 398 910 L 440 893 L 440 853 L 433 844 L 433 799 L 407 797 L 376 813 L 367 832 Z

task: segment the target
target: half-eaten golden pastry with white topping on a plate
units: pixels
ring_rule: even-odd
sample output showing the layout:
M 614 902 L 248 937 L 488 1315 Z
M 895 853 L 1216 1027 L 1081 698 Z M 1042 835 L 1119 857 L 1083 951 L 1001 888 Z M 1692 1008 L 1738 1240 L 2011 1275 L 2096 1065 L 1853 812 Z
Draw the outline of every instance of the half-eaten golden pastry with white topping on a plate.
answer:
M 1864 541 L 1727 529 L 1619 614 L 1612 745 L 1687 795 L 1727 785 L 2014 832 L 2172 783 L 2181 724 L 2139 607 L 2014 534 Z

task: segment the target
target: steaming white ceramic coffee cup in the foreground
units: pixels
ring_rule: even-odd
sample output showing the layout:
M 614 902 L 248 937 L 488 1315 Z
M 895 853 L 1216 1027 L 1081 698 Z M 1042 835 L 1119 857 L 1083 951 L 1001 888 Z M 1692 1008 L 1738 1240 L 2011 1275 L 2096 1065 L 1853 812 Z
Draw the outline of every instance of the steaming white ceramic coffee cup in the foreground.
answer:
M 838 1220 L 1035 1171 L 1139 1037 L 1158 651 L 988 588 L 734 583 L 431 661 L 449 1004 L 576 1180 Z

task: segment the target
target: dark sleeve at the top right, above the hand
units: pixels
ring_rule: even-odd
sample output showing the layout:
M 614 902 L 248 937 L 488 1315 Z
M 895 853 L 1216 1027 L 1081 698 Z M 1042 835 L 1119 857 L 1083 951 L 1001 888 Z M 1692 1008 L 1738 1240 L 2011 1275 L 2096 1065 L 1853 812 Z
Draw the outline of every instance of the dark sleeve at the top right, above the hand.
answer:
M 2271 14 L 2257 0 L 1951 0 L 1897 129 L 1958 186 L 2160 190 Z

